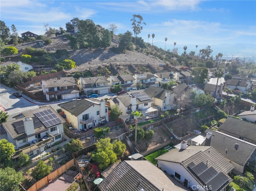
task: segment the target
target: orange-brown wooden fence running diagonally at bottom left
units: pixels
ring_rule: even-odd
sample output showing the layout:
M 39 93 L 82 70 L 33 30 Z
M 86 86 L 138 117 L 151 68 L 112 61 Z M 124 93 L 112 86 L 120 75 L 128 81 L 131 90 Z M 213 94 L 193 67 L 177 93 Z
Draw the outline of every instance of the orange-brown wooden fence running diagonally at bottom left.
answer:
M 67 163 L 65 163 L 64 165 L 62 165 L 61 167 L 59 167 L 55 171 L 48 174 L 46 177 L 38 180 L 29 189 L 27 189 L 27 191 L 38 191 L 39 189 L 41 189 L 42 187 L 47 185 L 49 180 L 56 179 L 57 177 L 59 177 L 60 175 L 65 173 L 68 169 L 70 169 L 72 166 L 74 166 L 74 164 L 75 164 L 74 159 L 68 161 Z

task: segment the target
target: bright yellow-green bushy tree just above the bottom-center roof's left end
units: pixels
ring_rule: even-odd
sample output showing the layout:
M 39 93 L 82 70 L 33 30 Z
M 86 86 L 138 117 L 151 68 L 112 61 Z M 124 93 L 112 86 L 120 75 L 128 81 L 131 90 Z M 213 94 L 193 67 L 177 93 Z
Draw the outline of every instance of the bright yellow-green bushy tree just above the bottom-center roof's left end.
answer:
M 110 138 L 97 140 L 95 145 L 96 152 L 92 153 L 92 160 L 99 163 L 100 169 L 104 170 L 110 164 L 117 161 L 117 156 L 114 152 L 113 144 L 110 143 Z

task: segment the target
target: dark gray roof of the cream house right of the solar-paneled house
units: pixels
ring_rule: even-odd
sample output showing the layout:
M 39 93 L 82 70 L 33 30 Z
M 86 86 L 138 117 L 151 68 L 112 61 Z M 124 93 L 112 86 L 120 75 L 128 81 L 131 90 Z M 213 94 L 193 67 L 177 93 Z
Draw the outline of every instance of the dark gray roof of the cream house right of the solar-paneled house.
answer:
M 72 100 L 69 102 L 58 104 L 64 110 L 70 112 L 74 116 L 78 116 L 93 105 L 92 102 L 86 99 Z

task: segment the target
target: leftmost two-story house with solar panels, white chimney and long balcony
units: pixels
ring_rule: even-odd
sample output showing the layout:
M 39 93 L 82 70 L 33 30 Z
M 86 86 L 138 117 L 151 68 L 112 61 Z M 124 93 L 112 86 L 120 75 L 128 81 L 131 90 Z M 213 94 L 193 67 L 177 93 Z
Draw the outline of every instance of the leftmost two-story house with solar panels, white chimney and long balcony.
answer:
M 44 106 L 22 112 L 18 119 L 2 123 L 7 140 L 19 149 L 12 158 L 18 158 L 21 152 L 29 156 L 40 154 L 44 148 L 63 140 L 64 122 L 51 106 Z

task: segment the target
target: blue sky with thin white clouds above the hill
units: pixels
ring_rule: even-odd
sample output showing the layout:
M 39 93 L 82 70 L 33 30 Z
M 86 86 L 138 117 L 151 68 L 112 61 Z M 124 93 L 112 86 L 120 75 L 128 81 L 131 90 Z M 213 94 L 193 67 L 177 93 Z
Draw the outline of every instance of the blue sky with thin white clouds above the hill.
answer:
M 0 0 L 0 20 L 10 32 L 14 24 L 19 35 L 42 35 L 44 24 L 66 29 L 72 18 L 90 19 L 105 29 L 112 23 L 117 26 L 115 34 L 132 32 L 134 14 L 146 23 L 138 37 L 160 46 L 165 46 L 166 37 L 166 49 L 173 49 L 174 42 L 256 44 L 255 0 Z

